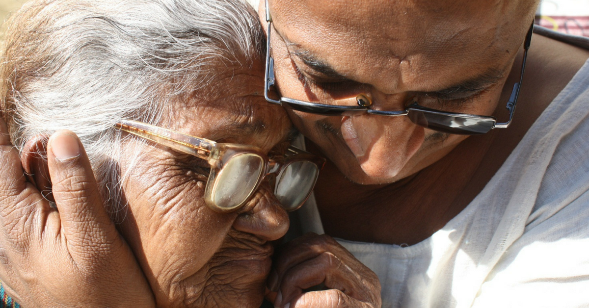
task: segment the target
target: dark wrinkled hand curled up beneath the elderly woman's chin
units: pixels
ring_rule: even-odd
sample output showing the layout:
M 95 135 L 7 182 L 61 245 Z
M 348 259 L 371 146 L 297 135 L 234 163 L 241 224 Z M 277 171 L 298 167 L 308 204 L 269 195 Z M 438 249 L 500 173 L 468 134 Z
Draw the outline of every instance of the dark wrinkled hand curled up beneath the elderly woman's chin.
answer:
M 274 307 L 380 307 L 376 274 L 330 236 L 307 233 L 281 247 L 275 260 L 267 294 Z

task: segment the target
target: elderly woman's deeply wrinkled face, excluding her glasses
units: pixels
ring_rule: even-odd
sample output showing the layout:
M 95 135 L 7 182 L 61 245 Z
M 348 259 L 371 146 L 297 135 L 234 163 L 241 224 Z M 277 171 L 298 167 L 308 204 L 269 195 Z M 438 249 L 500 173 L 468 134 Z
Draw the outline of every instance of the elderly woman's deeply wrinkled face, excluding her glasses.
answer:
M 263 98 L 263 64 L 223 67 L 213 85 L 191 98 L 170 98 L 160 126 L 220 143 L 283 148 L 291 124 Z M 128 213 L 121 232 L 149 280 L 158 307 L 259 307 L 273 248 L 289 221 L 269 184 L 235 213 L 204 203 L 206 161 L 139 138 L 123 160 Z

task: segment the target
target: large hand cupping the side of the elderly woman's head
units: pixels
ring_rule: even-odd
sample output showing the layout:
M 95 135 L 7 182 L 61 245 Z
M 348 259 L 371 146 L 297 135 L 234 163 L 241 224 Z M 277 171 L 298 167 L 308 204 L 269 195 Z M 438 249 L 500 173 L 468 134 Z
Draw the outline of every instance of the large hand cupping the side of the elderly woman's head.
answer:
M 42 144 L 28 143 L 21 165 L 0 118 L 0 280 L 8 294 L 24 307 L 155 307 L 80 140 L 58 131 L 47 161 L 31 151 Z M 48 186 L 57 208 L 41 194 Z

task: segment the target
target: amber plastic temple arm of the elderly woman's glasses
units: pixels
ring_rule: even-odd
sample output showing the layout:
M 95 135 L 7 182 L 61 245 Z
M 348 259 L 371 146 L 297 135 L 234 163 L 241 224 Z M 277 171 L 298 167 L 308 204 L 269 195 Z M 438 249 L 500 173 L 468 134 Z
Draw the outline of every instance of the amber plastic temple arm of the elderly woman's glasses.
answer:
M 193 137 L 191 135 L 177 133 L 176 131 L 167 130 L 142 122 L 125 120 L 115 124 L 118 130 L 126 131 L 139 137 L 154 141 L 155 143 L 166 145 L 166 147 L 182 153 L 194 155 L 198 158 L 207 160 L 211 153 L 211 148 L 215 144 L 212 140 Z

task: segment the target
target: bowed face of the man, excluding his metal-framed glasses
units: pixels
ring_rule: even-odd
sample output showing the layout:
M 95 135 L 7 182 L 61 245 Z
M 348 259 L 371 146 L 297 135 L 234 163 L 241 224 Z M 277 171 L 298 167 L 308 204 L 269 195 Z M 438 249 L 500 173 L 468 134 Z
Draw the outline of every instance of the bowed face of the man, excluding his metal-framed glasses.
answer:
M 283 97 L 303 101 L 355 105 L 363 93 L 376 110 L 415 101 L 505 121 L 498 100 L 532 22 L 532 2 L 269 0 L 276 84 Z M 407 177 L 465 139 L 406 117 L 289 115 L 357 183 Z

